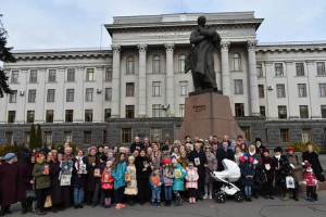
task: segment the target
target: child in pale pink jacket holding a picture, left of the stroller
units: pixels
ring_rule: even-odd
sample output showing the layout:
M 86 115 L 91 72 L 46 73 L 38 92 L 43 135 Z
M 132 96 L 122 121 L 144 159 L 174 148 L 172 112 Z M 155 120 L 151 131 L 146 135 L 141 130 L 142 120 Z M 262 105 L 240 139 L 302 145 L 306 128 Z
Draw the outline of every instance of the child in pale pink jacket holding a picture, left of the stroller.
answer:
M 187 176 L 186 178 L 186 188 L 189 191 L 189 203 L 196 203 L 196 191 L 198 189 L 198 173 L 197 173 L 197 168 L 193 167 L 193 163 L 190 162 L 188 167 L 187 167 Z

